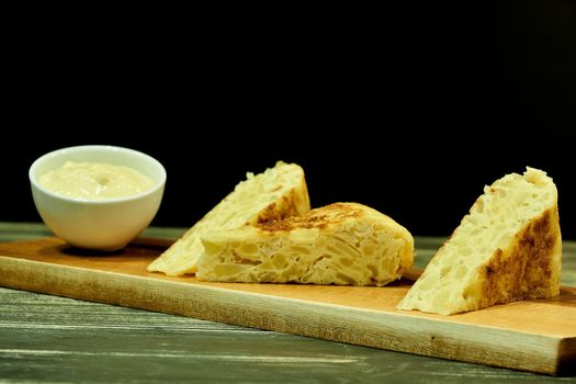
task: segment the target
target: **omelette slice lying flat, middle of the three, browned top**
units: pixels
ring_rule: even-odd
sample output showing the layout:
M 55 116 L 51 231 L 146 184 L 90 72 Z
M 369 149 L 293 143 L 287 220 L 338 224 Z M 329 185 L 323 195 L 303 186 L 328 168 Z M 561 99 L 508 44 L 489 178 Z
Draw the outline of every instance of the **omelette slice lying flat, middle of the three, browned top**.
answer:
M 204 281 L 384 285 L 414 260 L 410 233 L 355 203 L 202 236 Z

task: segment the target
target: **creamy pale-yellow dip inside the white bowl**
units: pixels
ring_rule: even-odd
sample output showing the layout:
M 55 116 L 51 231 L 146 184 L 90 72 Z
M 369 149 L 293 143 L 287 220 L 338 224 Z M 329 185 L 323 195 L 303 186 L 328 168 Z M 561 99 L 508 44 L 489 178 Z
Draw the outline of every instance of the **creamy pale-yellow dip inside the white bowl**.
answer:
M 106 162 L 67 161 L 38 181 L 54 193 L 86 200 L 125 197 L 154 187 L 154 180 L 137 170 Z

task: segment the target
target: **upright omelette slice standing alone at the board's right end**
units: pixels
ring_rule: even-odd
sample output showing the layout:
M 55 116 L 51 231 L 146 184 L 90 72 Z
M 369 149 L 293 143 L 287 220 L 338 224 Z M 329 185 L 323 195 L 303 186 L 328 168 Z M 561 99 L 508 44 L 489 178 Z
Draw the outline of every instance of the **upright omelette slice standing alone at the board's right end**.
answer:
M 484 188 L 398 308 L 452 315 L 557 296 L 561 268 L 556 187 L 528 167 Z

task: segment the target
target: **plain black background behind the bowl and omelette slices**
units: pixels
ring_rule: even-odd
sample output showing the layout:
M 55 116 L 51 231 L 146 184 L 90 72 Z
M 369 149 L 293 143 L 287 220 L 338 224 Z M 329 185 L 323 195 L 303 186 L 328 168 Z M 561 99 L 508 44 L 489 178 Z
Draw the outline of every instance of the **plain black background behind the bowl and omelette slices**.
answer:
M 447 236 L 485 184 L 531 166 L 576 239 L 574 2 L 109 11 L 20 14 L 9 34 L 1 221 L 39 221 L 36 157 L 111 144 L 165 165 L 153 225 L 191 226 L 282 159 L 313 206 Z

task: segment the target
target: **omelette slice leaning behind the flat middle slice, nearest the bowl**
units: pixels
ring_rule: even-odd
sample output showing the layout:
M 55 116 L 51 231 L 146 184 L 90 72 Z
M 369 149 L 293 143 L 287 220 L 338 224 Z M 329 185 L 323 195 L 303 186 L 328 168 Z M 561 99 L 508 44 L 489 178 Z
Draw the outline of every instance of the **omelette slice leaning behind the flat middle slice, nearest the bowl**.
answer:
M 148 266 L 150 272 L 181 275 L 196 271 L 203 251 L 200 236 L 246 224 L 283 219 L 310 210 L 302 167 L 279 161 L 274 168 L 247 173 L 234 191 Z

